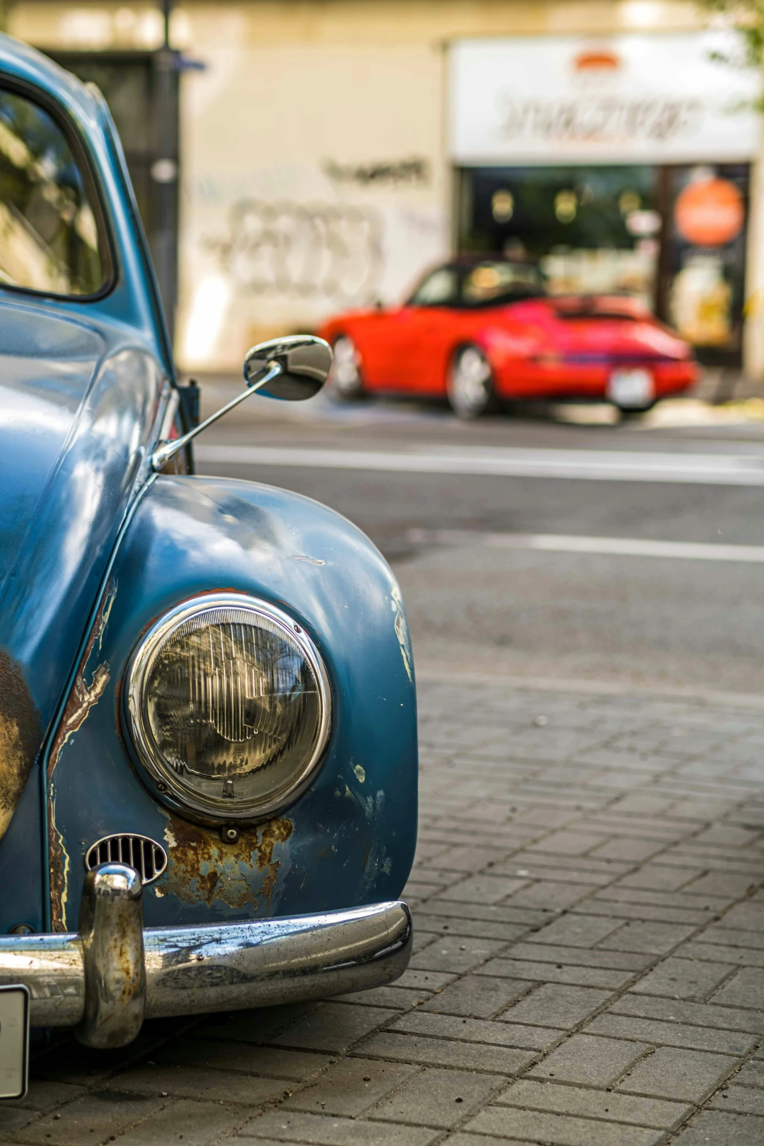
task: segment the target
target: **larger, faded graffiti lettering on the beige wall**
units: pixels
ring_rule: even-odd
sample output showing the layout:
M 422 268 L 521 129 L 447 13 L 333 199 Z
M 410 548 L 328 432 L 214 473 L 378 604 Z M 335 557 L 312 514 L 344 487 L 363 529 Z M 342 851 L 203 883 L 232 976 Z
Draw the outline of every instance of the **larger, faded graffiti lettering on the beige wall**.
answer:
M 206 245 L 242 291 L 364 305 L 379 289 L 381 238 L 373 207 L 239 199 L 228 235 Z

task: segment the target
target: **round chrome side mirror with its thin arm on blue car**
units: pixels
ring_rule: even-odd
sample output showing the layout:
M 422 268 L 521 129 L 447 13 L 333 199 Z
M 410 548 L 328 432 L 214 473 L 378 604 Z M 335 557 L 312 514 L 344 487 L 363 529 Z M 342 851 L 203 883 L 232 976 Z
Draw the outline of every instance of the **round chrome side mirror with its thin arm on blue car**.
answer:
M 184 446 L 207 426 L 228 414 L 250 394 L 258 391 L 267 398 L 286 402 L 300 402 L 313 398 L 323 386 L 332 362 L 329 343 L 314 335 L 285 335 L 259 343 L 247 351 L 244 359 L 244 378 L 247 388 L 237 394 L 227 406 L 221 407 L 200 425 L 189 430 L 182 438 L 163 442 L 151 455 L 151 469 L 162 470 Z

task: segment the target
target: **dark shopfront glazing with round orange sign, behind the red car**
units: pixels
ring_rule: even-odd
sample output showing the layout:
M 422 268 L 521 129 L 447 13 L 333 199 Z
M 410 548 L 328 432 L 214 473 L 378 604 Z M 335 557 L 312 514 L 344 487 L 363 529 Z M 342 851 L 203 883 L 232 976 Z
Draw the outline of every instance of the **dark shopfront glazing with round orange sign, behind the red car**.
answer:
M 536 262 L 552 295 L 628 295 L 702 361 L 738 366 L 747 164 L 471 167 L 462 251 Z

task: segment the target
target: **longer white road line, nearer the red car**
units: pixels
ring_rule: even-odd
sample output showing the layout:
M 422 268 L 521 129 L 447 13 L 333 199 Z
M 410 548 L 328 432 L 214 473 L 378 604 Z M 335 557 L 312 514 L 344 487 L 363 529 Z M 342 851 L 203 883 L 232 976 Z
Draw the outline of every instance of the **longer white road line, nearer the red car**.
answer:
M 285 465 L 396 473 L 568 478 L 589 481 L 662 481 L 764 486 L 764 454 L 668 454 L 606 449 L 308 449 L 299 446 L 198 445 L 199 462 Z

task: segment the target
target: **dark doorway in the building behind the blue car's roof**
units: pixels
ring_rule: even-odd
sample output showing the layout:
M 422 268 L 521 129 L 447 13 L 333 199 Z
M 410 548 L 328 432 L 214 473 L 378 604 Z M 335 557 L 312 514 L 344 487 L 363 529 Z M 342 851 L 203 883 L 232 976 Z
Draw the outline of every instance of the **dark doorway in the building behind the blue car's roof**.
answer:
M 178 299 L 179 71 L 164 52 L 60 52 L 103 93 L 119 132 L 171 337 Z

